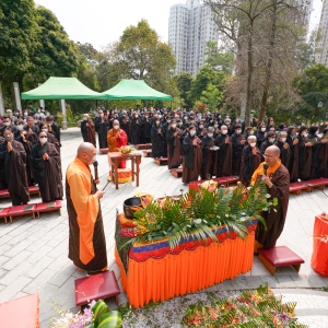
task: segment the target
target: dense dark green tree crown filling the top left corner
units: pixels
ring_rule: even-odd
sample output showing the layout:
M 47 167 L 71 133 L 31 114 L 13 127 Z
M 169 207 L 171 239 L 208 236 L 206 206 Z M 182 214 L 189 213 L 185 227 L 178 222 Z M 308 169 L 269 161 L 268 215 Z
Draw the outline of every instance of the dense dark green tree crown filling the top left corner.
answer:
M 33 0 L 0 2 L 0 79 L 21 80 L 31 67 L 36 24 Z M 31 56 L 32 55 L 32 56 Z

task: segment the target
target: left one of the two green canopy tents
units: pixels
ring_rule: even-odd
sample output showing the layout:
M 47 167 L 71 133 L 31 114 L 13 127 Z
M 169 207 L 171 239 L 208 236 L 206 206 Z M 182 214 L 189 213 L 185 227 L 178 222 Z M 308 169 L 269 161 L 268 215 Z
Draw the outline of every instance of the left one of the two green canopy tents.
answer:
M 77 78 L 50 77 L 40 86 L 22 93 L 22 99 L 96 99 L 102 94 L 92 91 Z

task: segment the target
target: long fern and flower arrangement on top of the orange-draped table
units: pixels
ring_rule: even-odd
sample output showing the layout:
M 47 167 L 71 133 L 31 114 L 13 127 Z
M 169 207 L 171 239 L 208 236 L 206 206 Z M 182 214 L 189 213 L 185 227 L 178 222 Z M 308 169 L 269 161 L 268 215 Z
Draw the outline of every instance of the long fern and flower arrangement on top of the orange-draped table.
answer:
M 152 201 L 148 207 L 134 212 L 137 227 L 134 236 L 124 241 L 120 249 L 131 243 L 150 243 L 168 239 L 174 249 L 190 235 L 197 241 L 219 242 L 215 232 L 226 227 L 227 233 L 235 233 L 244 238 L 248 235 L 247 226 L 260 221 L 262 211 L 277 206 L 277 199 L 267 194 L 263 181 L 257 181 L 248 190 L 242 184 L 235 189 L 200 188 L 189 190 L 178 200 L 166 197 L 164 201 Z

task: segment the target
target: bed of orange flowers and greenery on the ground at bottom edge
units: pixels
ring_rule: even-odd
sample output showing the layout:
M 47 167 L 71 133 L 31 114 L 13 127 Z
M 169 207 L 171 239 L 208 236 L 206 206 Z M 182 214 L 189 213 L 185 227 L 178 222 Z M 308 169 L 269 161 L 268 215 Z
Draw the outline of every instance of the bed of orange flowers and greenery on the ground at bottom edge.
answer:
M 236 298 L 220 298 L 211 305 L 190 305 L 185 313 L 185 327 L 293 327 L 303 328 L 295 318 L 296 303 L 283 304 L 266 284 L 244 291 Z

